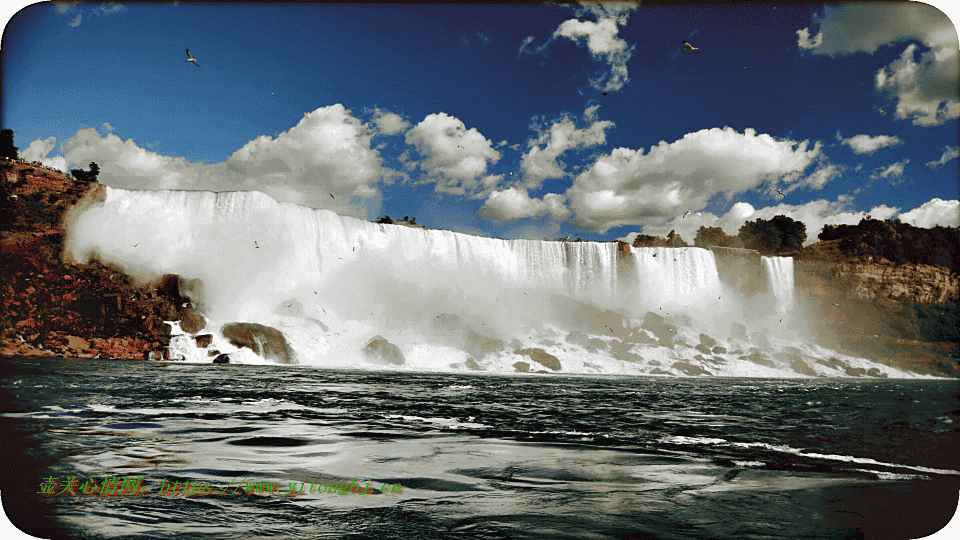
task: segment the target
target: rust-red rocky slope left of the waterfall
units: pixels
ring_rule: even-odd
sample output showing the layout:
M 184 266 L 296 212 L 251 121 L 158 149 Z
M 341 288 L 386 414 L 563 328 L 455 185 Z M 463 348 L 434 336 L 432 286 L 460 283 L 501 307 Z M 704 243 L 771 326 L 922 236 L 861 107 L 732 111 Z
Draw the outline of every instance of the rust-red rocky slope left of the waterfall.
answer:
M 0 356 L 163 357 L 163 321 L 180 319 L 173 295 L 63 257 L 65 213 L 102 195 L 96 182 L 0 161 Z

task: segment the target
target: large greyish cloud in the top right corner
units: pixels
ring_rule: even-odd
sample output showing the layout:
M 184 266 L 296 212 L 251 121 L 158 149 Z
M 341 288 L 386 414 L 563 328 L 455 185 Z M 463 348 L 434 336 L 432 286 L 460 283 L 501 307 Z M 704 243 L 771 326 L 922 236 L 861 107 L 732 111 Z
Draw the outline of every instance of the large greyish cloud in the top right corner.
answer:
M 814 36 L 809 28 L 797 31 L 798 46 L 815 54 L 873 54 L 885 45 L 919 41 L 928 49 L 919 61 L 918 46 L 911 43 L 876 73 L 877 90 L 896 101 L 897 119 L 934 126 L 960 117 L 957 31 L 936 8 L 920 2 L 850 2 L 825 7 L 815 23 Z

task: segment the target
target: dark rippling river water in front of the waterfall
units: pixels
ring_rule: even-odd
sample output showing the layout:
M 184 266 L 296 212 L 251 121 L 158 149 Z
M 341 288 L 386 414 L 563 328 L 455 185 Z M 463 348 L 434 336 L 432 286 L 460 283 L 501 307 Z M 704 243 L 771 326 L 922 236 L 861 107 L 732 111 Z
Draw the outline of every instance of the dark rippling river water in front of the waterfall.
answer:
M 956 380 L 0 366 L 4 510 L 48 538 L 919 538 L 960 493 Z

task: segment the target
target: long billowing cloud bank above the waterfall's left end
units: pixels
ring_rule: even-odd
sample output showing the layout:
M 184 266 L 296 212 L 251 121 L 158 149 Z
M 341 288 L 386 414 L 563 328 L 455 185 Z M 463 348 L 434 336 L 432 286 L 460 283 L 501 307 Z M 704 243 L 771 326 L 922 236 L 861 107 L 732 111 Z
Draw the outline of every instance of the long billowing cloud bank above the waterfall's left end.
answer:
M 250 141 L 223 163 L 164 156 L 113 133 L 101 137 L 94 128 L 78 131 L 60 145 L 60 155 L 50 158 L 46 155 L 56 139 L 34 141 L 24 158 L 63 171 L 85 169 L 93 161 L 100 166 L 101 182 L 114 187 L 258 190 L 281 201 L 369 217 L 380 210 L 376 184 L 397 175 L 382 166 L 370 146 L 372 136 L 371 127 L 338 104 L 305 114 L 276 138 Z

